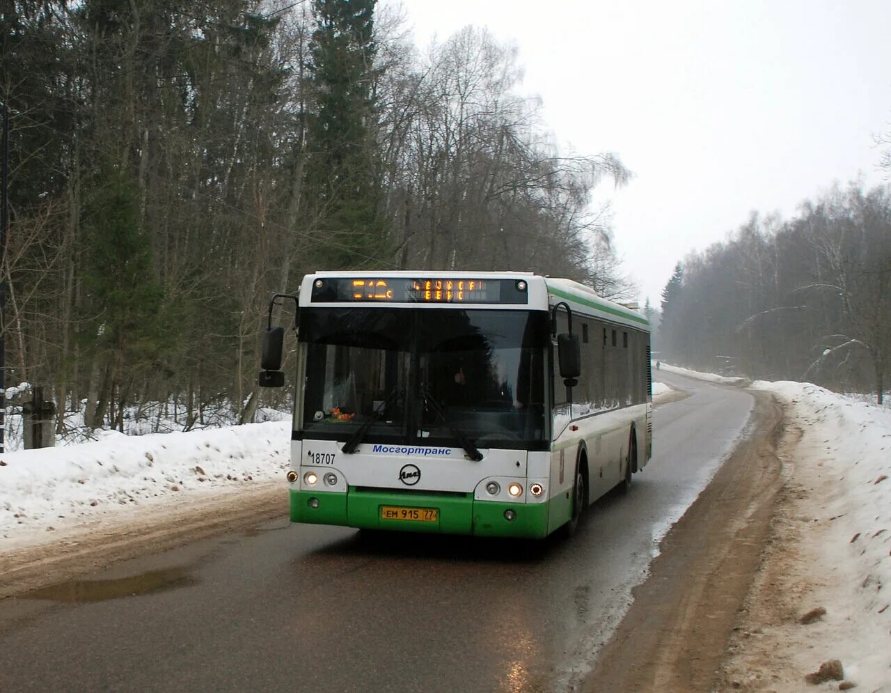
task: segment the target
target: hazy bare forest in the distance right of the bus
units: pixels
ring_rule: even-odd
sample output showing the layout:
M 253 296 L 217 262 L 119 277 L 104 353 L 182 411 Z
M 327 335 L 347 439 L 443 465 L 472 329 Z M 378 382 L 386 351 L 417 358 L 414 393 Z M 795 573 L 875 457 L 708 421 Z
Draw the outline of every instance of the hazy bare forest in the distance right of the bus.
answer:
M 889 167 L 891 168 L 891 167 Z M 891 368 L 891 186 L 833 186 L 792 219 L 753 213 L 674 268 L 661 359 L 874 392 Z

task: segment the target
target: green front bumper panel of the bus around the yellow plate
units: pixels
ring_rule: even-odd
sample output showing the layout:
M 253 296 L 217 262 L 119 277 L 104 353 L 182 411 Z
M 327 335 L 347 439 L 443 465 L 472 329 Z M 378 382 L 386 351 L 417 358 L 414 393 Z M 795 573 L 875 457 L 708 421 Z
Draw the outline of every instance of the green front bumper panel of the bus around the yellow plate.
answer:
M 315 505 L 315 507 L 313 507 Z M 441 532 L 477 534 L 491 537 L 540 539 L 548 530 L 549 503 L 512 504 L 475 500 L 473 495 L 435 493 L 388 493 L 357 491 L 347 493 L 290 490 L 290 521 L 310 524 L 340 524 L 363 529 L 402 532 Z M 433 521 L 386 519 L 382 507 L 436 510 Z M 513 519 L 504 516 L 513 510 Z M 430 517 L 430 513 L 421 513 Z

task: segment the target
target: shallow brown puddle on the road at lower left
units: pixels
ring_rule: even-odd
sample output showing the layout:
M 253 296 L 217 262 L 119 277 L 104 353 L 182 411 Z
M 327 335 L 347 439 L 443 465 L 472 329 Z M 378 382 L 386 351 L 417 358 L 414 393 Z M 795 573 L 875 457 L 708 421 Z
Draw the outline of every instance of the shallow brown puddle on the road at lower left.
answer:
M 197 584 L 185 568 L 153 570 L 119 580 L 71 580 L 21 595 L 22 599 L 95 602 L 157 594 Z

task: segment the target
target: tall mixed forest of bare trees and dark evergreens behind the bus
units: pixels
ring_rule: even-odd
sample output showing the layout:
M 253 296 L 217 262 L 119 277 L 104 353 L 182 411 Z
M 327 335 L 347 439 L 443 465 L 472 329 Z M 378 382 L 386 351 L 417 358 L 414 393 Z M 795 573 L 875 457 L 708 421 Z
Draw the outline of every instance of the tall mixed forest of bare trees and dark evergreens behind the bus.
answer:
M 257 387 L 266 305 L 316 269 L 634 293 L 594 196 L 631 173 L 561 152 L 485 29 L 420 50 L 374 0 L 7 0 L 0 21 L 5 383 L 43 386 L 59 433 L 287 407 Z

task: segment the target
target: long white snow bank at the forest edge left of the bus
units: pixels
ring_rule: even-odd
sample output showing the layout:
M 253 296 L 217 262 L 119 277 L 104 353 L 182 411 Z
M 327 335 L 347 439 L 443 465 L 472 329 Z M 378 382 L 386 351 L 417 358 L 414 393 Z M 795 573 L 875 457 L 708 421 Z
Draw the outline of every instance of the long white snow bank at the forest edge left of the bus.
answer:
M 290 421 L 129 436 L 0 458 L 0 550 L 39 543 L 47 532 L 108 522 L 133 507 L 188 503 L 282 479 Z

